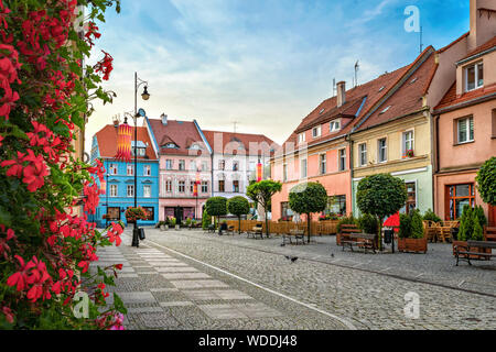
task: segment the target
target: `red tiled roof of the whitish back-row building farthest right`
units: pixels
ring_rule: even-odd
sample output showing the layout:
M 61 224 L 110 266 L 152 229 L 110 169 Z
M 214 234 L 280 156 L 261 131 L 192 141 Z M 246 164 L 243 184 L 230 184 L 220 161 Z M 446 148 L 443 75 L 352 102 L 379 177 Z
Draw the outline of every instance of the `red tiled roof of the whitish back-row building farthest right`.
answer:
M 205 135 L 208 144 L 214 150 L 214 153 L 223 154 L 227 151 L 227 153 L 233 152 L 233 154 L 237 153 L 239 146 L 244 147 L 244 152 L 246 155 L 259 155 L 260 152 L 270 153 L 270 148 L 278 148 L 279 145 L 273 142 L 271 139 L 267 138 L 263 134 L 250 134 L 250 133 L 233 133 L 233 132 L 220 132 L 220 131 L 205 131 L 203 130 L 203 134 Z M 217 139 L 222 136 L 223 143 L 215 143 Z M 256 150 L 250 151 L 250 145 L 252 143 L 263 143 L 267 145 L 260 144 L 262 146 L 262 151 Z M 267 151 L 267 146 L 269 147 Z

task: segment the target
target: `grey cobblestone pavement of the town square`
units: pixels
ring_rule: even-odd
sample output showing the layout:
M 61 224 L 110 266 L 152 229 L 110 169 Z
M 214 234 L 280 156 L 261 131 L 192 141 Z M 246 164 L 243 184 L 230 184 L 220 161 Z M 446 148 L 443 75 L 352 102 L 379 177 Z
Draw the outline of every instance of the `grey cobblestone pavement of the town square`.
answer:
M 115 289 L 128 329 L 496 328 L 494 263 L 454 267 L 448 245 L 431 246 L 434 255 L 373 255 L 343 253 L 334 238 L 281 248 L 280 239 L 145 232 L 140 249 L 127 230 L 119 249 L 99 252 L 100 266 L 125 264 Z M 410 280 L 419 274 L 425 283 Z M 405 315 L 408 293 L 419 295 L 418 319 Z

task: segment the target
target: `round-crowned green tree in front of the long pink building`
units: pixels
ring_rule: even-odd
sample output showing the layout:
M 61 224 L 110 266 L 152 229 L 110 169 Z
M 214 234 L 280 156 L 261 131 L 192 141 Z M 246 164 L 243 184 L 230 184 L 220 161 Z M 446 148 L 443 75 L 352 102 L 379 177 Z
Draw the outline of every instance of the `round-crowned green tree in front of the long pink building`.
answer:
M 312 213 L 324 211 L 327 207 L 327 191 L 319 183 L 294 186 L 289 194 L 291 210 L 306 215 L 309 243 L 311 237 Z

